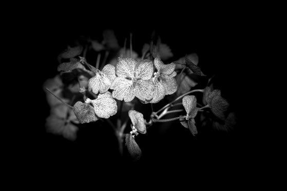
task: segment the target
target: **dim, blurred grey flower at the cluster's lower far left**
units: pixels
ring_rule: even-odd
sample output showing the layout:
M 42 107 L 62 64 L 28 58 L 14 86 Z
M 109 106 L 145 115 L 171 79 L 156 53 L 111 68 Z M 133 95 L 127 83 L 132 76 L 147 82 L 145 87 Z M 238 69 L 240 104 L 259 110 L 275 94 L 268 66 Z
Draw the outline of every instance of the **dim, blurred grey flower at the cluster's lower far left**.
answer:
M 51 108 L 51 114 L 46 119 L 47 132 L 56 135 L 62 135 L 71 141 L 76 139 L 76 132 L 79 121 L 76 119 L 74 112 L 66 105 L 59 104 Z

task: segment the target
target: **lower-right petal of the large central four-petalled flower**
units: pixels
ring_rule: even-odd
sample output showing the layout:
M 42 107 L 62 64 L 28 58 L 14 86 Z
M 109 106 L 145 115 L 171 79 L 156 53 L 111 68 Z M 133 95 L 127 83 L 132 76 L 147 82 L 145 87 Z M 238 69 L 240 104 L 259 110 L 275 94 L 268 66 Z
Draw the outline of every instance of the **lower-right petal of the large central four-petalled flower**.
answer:
M 135 95 L 140 100 L 151 100 L 153 97 L 154 83 L 150 80 L 138 80 L 136 82 Z

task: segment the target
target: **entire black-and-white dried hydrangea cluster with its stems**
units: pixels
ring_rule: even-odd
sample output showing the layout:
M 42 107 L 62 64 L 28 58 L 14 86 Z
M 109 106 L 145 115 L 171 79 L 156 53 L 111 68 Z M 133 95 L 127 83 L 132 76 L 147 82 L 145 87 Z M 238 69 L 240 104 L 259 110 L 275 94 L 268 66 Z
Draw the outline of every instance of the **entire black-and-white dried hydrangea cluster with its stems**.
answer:
M 129 49 L 126 41 L 123 48 L 119 46 L 113 31 L 104 31 L 103 36 L 102 43 L 88 38 L 59 54 L 60 73 L 44 83 L 51 108 L 46 119 L 48 132 L 75 140 L 77 124 L 106 121 L 116 134 L 120 154 L 125 144 L 130 156 L 139 160 L 143 154 L 136 137 L 139 133 L 148 133 L 148 128 L 155 123 L 179 121 L 193 136 L 207 123 L 217 130 L 233 129 L 235 114 L 229 111 L 229 103 L 221 97 L 221 91 L 213 88 L 212 78 L 201 71 L 197 54 L 166 63 L 173 58 L 170 48 L 159 40 L 152 40 L 143 46 L 139 58 L 132 50 L 131 36 Z M 116 56 L 109 58 L 108 63 L 110 52 Z M 98 54 L 95 67 L 87 62 L 87 53 Z M 198 78 L 209 79 L 202 84 L 205 88 L 195 88 Z M 165 98 L 174 100 L 154 111 L 157 103 Z M 134 109 L 135 104 L 151 108 L 148 119 Z M 175 107 L 178 109 L 173 110 Z M 128 118 L 122 120 L 121 112 L 125 111 Z M 111 121 L 110 117 L 116 113 L 119 118 Z M 178 114 L 175 118 L 162 119 L 170 113 Z M 129 122 L 130 129 L 127 129 Z

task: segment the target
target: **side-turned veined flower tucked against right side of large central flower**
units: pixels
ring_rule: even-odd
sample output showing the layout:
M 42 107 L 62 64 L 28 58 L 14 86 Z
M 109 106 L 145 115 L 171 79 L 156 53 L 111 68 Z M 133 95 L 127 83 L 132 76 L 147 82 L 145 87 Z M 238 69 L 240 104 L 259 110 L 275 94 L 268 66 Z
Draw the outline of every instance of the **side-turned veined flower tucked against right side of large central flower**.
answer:
M 175 64 L 164 64 L 159 58 L 154 60 L 157 72 L 153 78 L 154 97 L 150 103 L 157 103 L 164 98 L 165 95 L 173 94 L 177 91 L 177 83 L 174 78 L 177 73 L 175 72 Z

